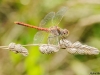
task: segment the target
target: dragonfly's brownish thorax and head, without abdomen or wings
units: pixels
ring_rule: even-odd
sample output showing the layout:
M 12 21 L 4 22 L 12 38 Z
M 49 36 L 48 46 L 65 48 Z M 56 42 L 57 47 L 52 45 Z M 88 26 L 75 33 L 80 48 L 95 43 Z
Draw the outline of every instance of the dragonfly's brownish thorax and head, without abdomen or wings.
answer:
M 61 37 L 66 37 L 68 36 L 69 31 L 67 29 L 61 29 L 57 26 L 51 27 L 49 31 L 54 35 L 54 36 L 61 36 Z

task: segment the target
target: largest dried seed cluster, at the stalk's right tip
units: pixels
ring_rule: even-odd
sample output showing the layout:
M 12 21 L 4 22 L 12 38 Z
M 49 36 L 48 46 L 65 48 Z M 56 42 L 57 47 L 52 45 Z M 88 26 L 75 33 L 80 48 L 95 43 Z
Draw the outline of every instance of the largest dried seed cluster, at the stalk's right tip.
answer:
M 61 49 L 66 49 L 71 54 L 97 55 L 100 52 L 97 48 L 88 45 L 82 45 L 78 41 L 71 43 L 70 41 L 64 39 L 60 40 L 59 45 Z

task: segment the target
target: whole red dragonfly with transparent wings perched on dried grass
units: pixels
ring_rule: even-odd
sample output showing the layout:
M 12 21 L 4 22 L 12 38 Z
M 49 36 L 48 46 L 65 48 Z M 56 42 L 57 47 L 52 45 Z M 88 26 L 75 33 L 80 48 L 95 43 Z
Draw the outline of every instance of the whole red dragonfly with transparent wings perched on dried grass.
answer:
M 48 39 L 48 44 L 58 44 L 60 39 L 65 39 L 68 36 L 69 31 L 67 29 L 62 29 L 58 27 L 58 24 L 62 20 L 64 14 L 66 13 L 67 8 L 63 7 L 61 8 L 56 14 L 55 12 L 48 13 L 44 19 L 40 22 L 39 26 L 33 26 L 30 24 L 26 24 L 23 22 L 14 22 L 15 24 L 35 28 L 38 30 L 41 30 L 37 32 L 34 36 L 34 43 L 41 43 L 46 38 Z M 52 24 L 50 24 L 52 23 Z M 46 28 L 47 26 L 52 25 L 49 28 Z M 45 26 L 45 28 L 44 28 Z M 50 32 L 48 35 L 46 32 Z

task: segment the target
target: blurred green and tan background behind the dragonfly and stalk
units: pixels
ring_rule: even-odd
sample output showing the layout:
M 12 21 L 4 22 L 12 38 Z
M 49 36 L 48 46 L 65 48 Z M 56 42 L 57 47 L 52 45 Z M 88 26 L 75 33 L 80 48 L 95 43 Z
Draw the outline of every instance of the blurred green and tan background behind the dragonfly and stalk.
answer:
M 68 10 L 59 26 L 70 31 L 67 39 L 100 49 L 100 0 L 0 0 L 0 45 L 33 43 L 37 30 L 14 21 L 38 26 L 47 13 L 62 6 Z M 100 55 L 72 55 L 64 50 L 47 55 L 35 46 L 27 49 L 27 57 L 0 49 L 0 75 L 100 74 Z

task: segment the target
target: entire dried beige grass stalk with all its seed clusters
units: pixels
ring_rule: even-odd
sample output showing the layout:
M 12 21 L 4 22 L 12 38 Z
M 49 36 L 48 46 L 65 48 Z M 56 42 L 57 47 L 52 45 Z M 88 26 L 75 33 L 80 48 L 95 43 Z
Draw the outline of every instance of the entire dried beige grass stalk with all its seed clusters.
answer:
M 58 52 L 60 49 L 67 50 L 71 54 L 87 54 L 87 55 L 98 55 L 100 51 L 88 45 L 83 45 L 80 42 L 72 43 L 66 39 L 60 40 L 58 45 L 52 44 L 28 44 L 28 45 L 21 45 L 10 43 L 9 46 L 0 46 L 2 49 L 9 49 L 15 53 L 20 53 L 24 56 L 27 56 L 28 50 L 23 46 L 39 46 L 39 50 L 43 54 L 50 54 L 54 52 Z

